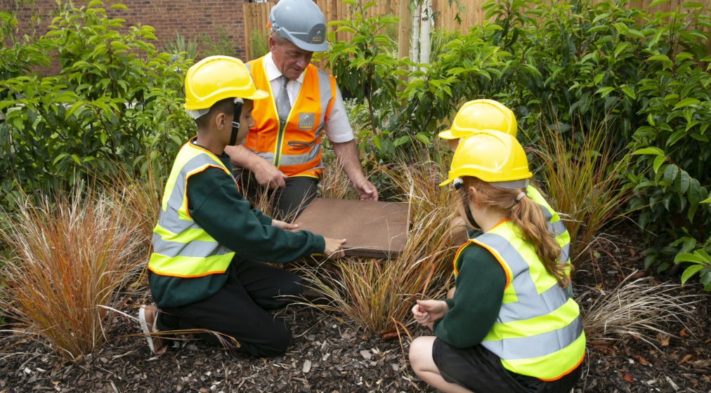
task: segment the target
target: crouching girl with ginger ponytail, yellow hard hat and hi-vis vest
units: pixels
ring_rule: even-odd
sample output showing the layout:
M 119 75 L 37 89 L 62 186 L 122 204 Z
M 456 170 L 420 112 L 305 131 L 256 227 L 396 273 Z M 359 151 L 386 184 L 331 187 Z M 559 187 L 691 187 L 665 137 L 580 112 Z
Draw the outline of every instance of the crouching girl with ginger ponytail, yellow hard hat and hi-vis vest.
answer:
M 523 148 L 488 130 L 462 139 L 449 178 L 461 217 L 482 235 L 456 253 L 454 297 L 417 301 L 412 314 L 434 337 L 415 339 L 413 370 L 444 392 L 570 392 L 585 335 L 567 294 L 570 263 L 528 195 Z

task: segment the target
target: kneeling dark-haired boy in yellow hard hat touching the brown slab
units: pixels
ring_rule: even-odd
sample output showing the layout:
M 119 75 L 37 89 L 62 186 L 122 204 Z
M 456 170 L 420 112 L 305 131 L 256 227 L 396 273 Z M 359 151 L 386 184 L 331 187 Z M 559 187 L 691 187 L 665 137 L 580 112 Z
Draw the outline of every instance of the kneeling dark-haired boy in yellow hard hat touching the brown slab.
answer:
M 148 264 L 156 305 L 139 310 L 157 355 L 169 350 L 160 332 L 171 330 L 201 330 L 205 340 L 260 357 L 284 352 L 291 330 L 267 310 L 303 289 L 295 274 L 262 262 L 343 255 L 344 239 L 289 232 L 296 225 L 252 209 L 237 188 L 225 146 L 242 143 L 254 125 L 252 100 L 265 97 L 235 58 L 205 58 L 188 70 L 185 109 L 198 136 L 183 145 L 166 183 Z

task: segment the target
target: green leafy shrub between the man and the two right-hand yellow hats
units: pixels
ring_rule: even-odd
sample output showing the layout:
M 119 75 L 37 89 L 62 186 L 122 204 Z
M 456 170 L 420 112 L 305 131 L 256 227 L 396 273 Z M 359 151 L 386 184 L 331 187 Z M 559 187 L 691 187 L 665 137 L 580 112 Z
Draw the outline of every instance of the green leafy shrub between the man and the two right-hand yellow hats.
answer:
M 332 42 L 319 56 L 336 77 L 340 87 L 353 92 L 358 105 L 353 112 L 367 124 L 361 135 L 370 136 L 361 149 L 392 161 L 399 153 L 412 155 L 416 141 L 429 145 L 439 124 L 451 118 L 459 104 L 476 95 L 483 82 L 498 74 L 498 48 L 481 38 L 487 27 L 466 34 L 451 33 L 449 41 L 437 48 L 430 65 L 417 65 L 409 58 L 398 59 L 388 28 L 400 18 L 368 16 L 374 3 L 350 4 L 351 18 L 333 21 L 338 31 L 353 33 L 351 41 Z M 410 72 L 410 67 L 417 70 Z M 404 146 L 405 149 L 396 149 Z

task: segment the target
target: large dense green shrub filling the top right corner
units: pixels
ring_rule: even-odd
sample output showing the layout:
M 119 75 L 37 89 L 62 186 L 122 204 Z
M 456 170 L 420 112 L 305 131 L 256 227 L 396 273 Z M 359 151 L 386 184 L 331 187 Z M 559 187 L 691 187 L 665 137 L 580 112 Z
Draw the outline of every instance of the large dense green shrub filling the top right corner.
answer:
M 655 4 L 668 0 L 655 1 Z M 513 107 L 533 142 L 542 127 L 582 141 L 604 124 L 619 151 L 634 152 L 624 182 L 650 248 L 646 267 L 668 269 L 711 237 L 711 76 L 704 62 L 710 16 L 700 3 L 652 14 L 628 1 L 488 1 L 509 53 L 488 95 Z M 685 264 L 690 262 L 684 262 Z

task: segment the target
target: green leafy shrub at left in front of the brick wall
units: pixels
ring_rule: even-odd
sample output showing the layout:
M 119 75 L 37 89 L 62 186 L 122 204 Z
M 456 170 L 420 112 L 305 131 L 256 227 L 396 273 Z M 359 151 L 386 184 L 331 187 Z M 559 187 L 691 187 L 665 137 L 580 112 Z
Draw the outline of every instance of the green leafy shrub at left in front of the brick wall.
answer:
M 16 75 L 0 80 L 4 193 L 48 193 L 86 176 L 145 173 L 149 165 L 161 173 L 193 131 L 181 108 L 190 61 L 173 63 L 169 53 L 156 52 L 144 41 L 155 39 L 149 26 L 120 33 L 124 21 L 107 18 L 100 6 L 65 7 L 46 36 L 0 51 L 11 58 L 5 71 Z M 34 72 L 50 53 L 59 75 Z M 31 61 L 22 60 L 27 54 Z

